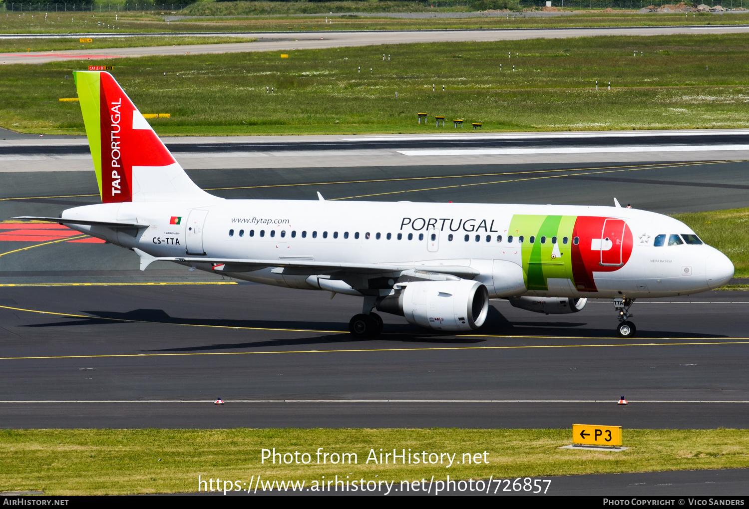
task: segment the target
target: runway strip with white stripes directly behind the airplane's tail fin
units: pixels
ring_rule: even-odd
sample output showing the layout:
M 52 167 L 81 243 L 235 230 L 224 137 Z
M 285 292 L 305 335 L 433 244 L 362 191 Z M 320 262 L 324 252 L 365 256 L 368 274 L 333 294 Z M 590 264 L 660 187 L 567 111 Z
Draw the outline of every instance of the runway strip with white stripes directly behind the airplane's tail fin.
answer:
M 188 170 L 442 167 L 749 159 L 749 129 L 603 132 L 452 132 L 431 135 L 165 137 Z M 93 171 L 88 141 L 0 139 L 0 173 Z

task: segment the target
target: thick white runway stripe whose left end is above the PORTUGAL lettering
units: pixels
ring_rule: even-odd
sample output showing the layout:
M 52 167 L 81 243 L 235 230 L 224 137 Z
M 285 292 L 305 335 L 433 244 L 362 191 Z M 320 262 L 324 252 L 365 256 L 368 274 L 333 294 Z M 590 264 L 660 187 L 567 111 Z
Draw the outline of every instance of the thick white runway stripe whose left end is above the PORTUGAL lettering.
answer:
M 398 150 L 398 153 L 402 153 L 404 156 L 512 156 L 519 154 L 554 153 L 706 152 L 712 150 L 749 150 L 749 145 L 635 145 L 630 147 L 461 148 Z

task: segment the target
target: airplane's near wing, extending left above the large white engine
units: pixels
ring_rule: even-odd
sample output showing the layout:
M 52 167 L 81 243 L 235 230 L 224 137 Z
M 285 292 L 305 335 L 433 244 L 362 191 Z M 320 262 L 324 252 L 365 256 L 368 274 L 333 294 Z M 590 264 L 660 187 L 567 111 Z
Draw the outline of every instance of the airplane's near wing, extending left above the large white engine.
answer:
M 455 275 L 458 278 L 474 278 L 479 271 L 459 265 L 419 265 L 416 263 L 333 263 L 312 260 L 240 260 L 226 258 L 161 257 L 156 260 L 188 263 L 212 263 L 223 265 L 221 272 L 250 272 L 265 267 L 288 267 L 299 274 L 330 274 L 332 272 L 357 272 L 360 274 L 383 274 L 417 270 Z M 216 267 L 217 268 L 217 267 Z

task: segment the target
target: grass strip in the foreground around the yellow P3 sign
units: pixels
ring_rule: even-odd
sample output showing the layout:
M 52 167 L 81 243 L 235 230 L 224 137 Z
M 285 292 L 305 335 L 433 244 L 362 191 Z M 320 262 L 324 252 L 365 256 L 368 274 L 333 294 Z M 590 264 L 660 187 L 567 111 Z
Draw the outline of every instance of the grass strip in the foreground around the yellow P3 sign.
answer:
M 221 410 L 221 409 L 217 409 Z M 613 423 L 612 423 L 613 424 Z M 602 472 L 723 469 L 749 466 L 747 430 L 624 430 L 622 452 L 560 449 L 570 430 L 2 430 L 0 491 L 46 495 L 175 493 L 198 490 L 203 479 L 366 481 L 539 478 Z M 316 463 L 315 452 L 356 453 L 357 464 Z M 261 449 L 309 453 L 309 465 L 261 464 Z M 488 463 L 369 464 L 370 449 L 484 453 Z M 484 459 L 482 455 L 482 459 Z M 392 457 L 391 457 L 392 461 Z M 446 460 L 445 460 L 446 461 Z M 375 478 L 377 476 L 377 478 Z M 246 485 L 245 488 L 246 489 Z

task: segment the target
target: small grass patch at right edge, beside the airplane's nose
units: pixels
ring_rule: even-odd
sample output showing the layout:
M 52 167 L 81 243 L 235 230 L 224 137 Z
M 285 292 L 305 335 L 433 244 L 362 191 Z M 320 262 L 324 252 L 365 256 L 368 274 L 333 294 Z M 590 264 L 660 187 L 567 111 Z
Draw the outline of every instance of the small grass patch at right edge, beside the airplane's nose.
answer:
M 674 214 L 736 267 L 736 278 L 749 278 L 749 208 Z M 730 288 L 727 288 L 730 289 Z

